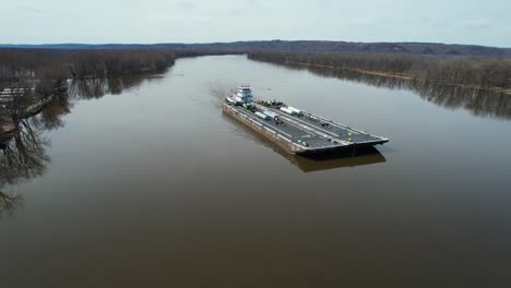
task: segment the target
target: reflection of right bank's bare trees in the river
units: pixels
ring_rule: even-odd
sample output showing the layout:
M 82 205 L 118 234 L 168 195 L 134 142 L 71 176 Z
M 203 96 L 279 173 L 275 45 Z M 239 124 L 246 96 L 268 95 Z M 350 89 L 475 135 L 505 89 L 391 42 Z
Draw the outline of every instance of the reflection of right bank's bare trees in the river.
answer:
M 297 70 L 308 70 L 318 75 L 349 80 L 376 87 L 411 89 L 417 93 L 423 99 L 441 107 L 450 109 L 461 107 L 475 116 L 511 119 L 511 96 L 502 93 L 492 93 L 484 89 L 427 81 L 409 81 L 399 77 L 371 75 L 353 70 L 333 71 L 324 68 L 290 64 L 286 64 L 286 67 Z

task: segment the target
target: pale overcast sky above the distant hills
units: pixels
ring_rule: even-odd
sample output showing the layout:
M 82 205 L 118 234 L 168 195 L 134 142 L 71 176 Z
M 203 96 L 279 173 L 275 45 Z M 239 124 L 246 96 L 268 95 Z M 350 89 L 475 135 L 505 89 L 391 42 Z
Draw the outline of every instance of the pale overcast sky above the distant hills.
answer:
M 0 0 L 1 44 L 269 39 L 511 47 L 511 0 Z

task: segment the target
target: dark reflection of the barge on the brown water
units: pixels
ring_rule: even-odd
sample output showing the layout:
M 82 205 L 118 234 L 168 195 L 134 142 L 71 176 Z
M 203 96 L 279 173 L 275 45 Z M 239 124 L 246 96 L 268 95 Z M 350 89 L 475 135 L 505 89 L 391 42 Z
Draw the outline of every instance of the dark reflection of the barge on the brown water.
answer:
M 263 144 L 264 146 L 272 148 L 275 153 L 288 159 L 289 163 L 298 167 L 298 169 L 300 169 L 305 173 L 336 168 L 353 168 L 357 166 L 372 165 L 387 161 L 385 157 L 383 157 L 383 155 L 375 147 L 359 148 L 356 152 L 356 154 L 353 154 L 352 152 L 336 152 L 307 157 L 293 155 L 285 152 L 278 145 L 269 141 L 261 134 L 252 131 L 242 123 L 230 118 L 229 116 L 223 115 L 223 118 L 226 121 L 236 125 L 238 131 L 241 131 L 243 136 L 253 136 L 250 139 L 253 139 L 259 144 Z

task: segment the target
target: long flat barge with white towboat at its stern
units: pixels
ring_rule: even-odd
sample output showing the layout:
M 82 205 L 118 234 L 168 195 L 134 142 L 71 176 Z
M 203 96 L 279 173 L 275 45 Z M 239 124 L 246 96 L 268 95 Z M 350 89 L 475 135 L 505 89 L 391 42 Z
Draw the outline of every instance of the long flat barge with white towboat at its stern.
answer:
M 290 154 L 313 155 L 356 152 L 389 142 L 284 103 L 253 101 L 252 89 L 240 86 L 222 106 L 225 113 L 239 120 Z

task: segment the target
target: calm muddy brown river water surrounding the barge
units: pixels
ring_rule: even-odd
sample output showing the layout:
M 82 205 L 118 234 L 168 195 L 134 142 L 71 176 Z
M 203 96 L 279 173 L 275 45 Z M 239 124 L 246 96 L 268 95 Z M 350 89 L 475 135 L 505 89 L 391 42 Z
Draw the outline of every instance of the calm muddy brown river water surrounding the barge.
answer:
M 222 113 L 247 82 L 391 142 L 286 155 Z M 31 159 L 2 168 L 0 287 L 511 285 L 506 98 L 445 104 L 245 56 L 117 84 L 75 86 L 20 140 Z

